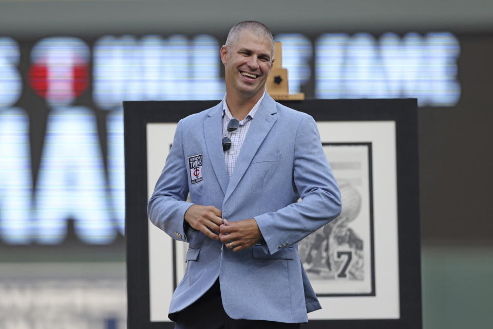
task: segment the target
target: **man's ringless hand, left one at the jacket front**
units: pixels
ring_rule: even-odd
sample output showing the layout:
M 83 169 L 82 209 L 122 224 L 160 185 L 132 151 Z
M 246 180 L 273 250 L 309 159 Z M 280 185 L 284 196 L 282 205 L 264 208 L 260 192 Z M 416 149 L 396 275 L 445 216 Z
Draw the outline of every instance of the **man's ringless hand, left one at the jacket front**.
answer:
M 221 210 L 214 206 L 192 205 L 186 210 L 184 217 L 194 229 L 201 231 L 211 239 L 219 239 L 219 236 L 209 229 L 219 233 L 219 225 L 222 224 Z

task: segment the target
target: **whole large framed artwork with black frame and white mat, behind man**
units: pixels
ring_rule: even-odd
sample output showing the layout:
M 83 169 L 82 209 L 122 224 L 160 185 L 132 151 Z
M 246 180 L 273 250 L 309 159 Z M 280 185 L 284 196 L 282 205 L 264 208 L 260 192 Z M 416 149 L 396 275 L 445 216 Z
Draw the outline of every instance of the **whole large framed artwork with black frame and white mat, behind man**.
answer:
M 421 328 L 416 101 L 283 102 L 312 115 L 342 213 L 298 243 L 321 310 L 307 328 Z M 211 101 L 125 102 L 128 327 L 171 328 L 187 244 L 147 218 L 179 119 Z

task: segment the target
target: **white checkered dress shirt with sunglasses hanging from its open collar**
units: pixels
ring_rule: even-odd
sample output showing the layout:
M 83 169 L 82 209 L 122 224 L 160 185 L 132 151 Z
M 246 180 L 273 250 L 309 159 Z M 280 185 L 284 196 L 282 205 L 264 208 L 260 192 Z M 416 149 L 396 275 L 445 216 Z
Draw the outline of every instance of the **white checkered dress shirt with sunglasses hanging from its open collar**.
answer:
M 230 109 L 226 104 L 226 95 L 224 95 L 223 99 L 223 115 L 222 115 L 222 137 L 229 136 L 231 139 L 231 148 L 229 151 L 224 152 L 224 160 L 226 161 L 227 167 L 227 176 L 231 178 L 233 174 L 233 169 L 235 169 L 236 160 L 238 160 L 238 155 L 240 154 L 241 145 L 245 141 L 245 137 L 247 137 L 248 129 L 250 124 L 252 124 L 253 116 L 257 112 L 258 106 L 262 102 L 263 97 L 266 96 L 266 92 L 263 92 L 262 97 L 258 100 L 258 102 L 253 106 L 249 114 L 240 121 L 240 126 L 234 132 L 227 132 L 227 123 L 233 119 L 233 115 L 230 112 Z

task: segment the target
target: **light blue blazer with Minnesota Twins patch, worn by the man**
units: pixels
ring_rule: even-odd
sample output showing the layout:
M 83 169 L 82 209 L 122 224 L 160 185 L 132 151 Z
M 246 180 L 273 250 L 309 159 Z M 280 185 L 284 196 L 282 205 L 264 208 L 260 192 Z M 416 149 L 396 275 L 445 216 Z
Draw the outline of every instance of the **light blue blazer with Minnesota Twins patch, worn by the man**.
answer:
M 221 102 L 178 122 L 149 200 L 151 222 L 173 239 L 189 243 L 185 275 L 168 316 L 174 320 L 174 313 L 200 298 L 219 277 L 224 310 L 231 318 L 307 322 L 307 313 L 321 306 L 300 262 L 297 242 L 341 210 L 315 120 L 266 94 L 229 179 L 221 144 L 222 112 Z M 202 155 L 199 182 L 189 165 L 189 157 L 197 155 Z M 265 242 L 232 252 L 185 225 L 183 216 L 191 206 L 185 201 L 188 192 L 193 203 L 213 205 L 229 221 L 255 218 Z

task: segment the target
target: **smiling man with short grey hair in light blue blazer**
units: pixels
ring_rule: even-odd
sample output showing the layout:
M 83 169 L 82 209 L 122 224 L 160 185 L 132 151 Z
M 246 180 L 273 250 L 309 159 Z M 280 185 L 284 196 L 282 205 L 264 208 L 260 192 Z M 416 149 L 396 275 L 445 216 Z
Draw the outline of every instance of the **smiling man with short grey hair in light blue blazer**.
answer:
M 230 30 L 226 95 L 180 120 L 149 200 L 150 220 L 189 243 L 175 328 L 299 328 L 320 308 L 297 242 L 337 217 L 340 193 L 313 118 L 265 92 L 273 54 L 265 25 Z

